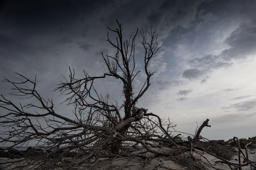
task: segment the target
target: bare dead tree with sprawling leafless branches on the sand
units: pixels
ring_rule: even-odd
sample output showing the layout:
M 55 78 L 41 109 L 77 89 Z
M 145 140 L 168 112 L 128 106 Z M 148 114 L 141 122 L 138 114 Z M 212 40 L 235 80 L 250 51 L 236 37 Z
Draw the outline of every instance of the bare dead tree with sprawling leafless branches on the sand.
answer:
M 151 28 L 145 32 L 140 31 L 141 44 L 144 48 L 146 79 L 135 95 L 134 78 L 140 72 L 135 72 L 134 59 L 135 37 L 138 29 L 125 42 L 121 24 L 118 22 L 117 24 L 116 29 L 107 27 L 117 35 L 116 42 L 113 42 L 107 35 L 107 41 L 116 48 L 117 52 L 114 56 L 102 54 L 107 68 L 104 74 L 100 77 L 92 77 L 84 72 L 84 77 L 79 79 L 75 78 L 74 70 L 70 69 L 69 78 L 55 89 L 60 94 L 69 96 L 65 102 L 67 105 L 74 106 L 74 119 L 56 112 L 53 101 L 45 100 L 39 95 L 36 90 L 36 80 L 32 81 L 20 74 L 22 82 L 16 83 L 5 79 L 14 86 L 13 90 L 16 92 L 14 95 L 25 98 L 33 97 L 40 103 L 18 106 L 1 95 L 0 107 L 9 112 L 0 116 L 1 127 L 6 129 L 1 134 L 0 142 L 12 143 L 9 148 L 2 151 L 18 152 L 20 156 L 19 160 L 13 162 L 17 164 L 13 169 L 94 169 L 102 158 L 111 161 L 114 158 L 129 157 L 131 161 L 138 156 L 144 159 L 142 169 L 145 169 L 147 160 L 150 159 L 148 153 L 151 153 L 150 157 L 164 156 L 175 159 L 192 170 L 214 168 L 213 165 L 202 163 L 198 158 L 193 157 L 192 153 L 198 150 L 213 155 L 220 159 L 221 163 L 228 164 L 234 170 L 241 170 L 242 166 L 248 164 L 255 167 L 254 162 L 248 158 L 247 150 L 246 155 L 241 152 L 240 143 L 236 137 L 233 140 L 240 149 L 239 164 L 232 163 L 193 144 L 204 139 L 200 133 L 204 127 L 210 127 L 209 119 L 203 122 L 195 135 L 182 140 L 178 137 L 181 134 L 176 136 L 171 134 L 170 128 L 176 125 L 170 119 L 163 120 L 156 114 L 147 113 L 148 110 L 145 108 L 136 107 L 136 103 L 150 86 L 150 78 L 154 72 L 148 71 L 148 65 L 160 47 L 158 47 L 156 30 Z M 94 83 L 106 77 L 114 77 L 121 81 L 123 103 L 112 101 L 108 94 L 103 96 L 97 93 Z M 26 108 L 39 109 L 42 113 L 33 114 L 27 112 Z M 45 121 L 46 127 L 41 125 L 39 118 Z M 12 149 L 15 146 L 26 145 L 31 140 L 37 141 L 37 145 L 26 152 Z M 157 151 L 154 149 L 162 147 L 168 147 L 171 150 Z M 244 156 L 243 163 L 240 161 L 241 153 Z M 126 165 L 127 163 L 123 165 L 123 168 L 126 168 Z

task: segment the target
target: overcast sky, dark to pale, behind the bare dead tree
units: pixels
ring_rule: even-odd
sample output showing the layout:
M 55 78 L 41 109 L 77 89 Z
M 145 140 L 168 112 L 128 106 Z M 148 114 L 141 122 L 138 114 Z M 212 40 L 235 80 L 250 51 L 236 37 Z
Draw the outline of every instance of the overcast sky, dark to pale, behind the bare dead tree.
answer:
M 194 134 L 209 119 L 202 136 L 228 140 L 256 135 L 256 1 L 252 0 L 22 0 L 0 4 L 0 79 L 34 79 L 43 97 L 53 98 L 55 111 L 72 118 L 72 108 L 53 92 L 69 75 L 83 70 L 102 75 L 104 55 L 115 49 L 106 41 L 107 28 L 122 23 L 123 35 L 155 28 L 163 46 L 149 70 L 151 86 L 138 107 L 171 118 L 176 130 Z M 114 39 L 115 37 L 112 36 Z M 137 69 L 143 68 L 141 35 L 135 40 Z M 135 91 L 144 82 L 138 75 Z M 117 79 L 96 86 L 120 98 Z M 0 82 L 0 94 L 10 96 Z M 122 97 L 121 97 L 122 99 Z M 5 113 L 3 109 L 1 114 Z M 178 132 L 174 132 L 178 134 Z

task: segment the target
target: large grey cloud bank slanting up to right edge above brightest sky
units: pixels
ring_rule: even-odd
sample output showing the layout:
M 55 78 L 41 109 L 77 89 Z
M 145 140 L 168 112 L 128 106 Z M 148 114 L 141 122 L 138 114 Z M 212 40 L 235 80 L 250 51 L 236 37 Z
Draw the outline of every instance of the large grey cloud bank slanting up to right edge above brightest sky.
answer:
M 197 79 L 220 68 L 233 66 L 234 60 L 240 63 L 245 58 L 256 54 L 256 20 L 246 21 L 226 38 L 225 43 L 230 46 L 219 55 L 196 57 L 188 64 L 192 67 L 183 72 L 182 77 Z

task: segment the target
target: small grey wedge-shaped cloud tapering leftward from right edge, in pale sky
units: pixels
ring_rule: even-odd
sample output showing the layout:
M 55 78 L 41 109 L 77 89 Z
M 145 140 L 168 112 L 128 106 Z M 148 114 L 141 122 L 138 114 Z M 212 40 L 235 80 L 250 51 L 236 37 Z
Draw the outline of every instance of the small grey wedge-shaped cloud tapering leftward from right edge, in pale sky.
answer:
M 249 100 L 224 106 L 222 109 L 236 109 L 237 111 L 251 111 L 256 108 L 256 100 Z

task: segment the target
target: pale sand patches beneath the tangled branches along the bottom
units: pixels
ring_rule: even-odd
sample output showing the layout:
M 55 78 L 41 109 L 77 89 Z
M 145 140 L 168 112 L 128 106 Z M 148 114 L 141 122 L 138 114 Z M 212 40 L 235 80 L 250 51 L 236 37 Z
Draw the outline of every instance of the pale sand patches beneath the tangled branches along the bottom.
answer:
M 156 151 L 168 151 L 170 148 L 154 148 Z M 235 148 L 238 151 L 238 148 Z M 245 153 L 245 149 L 241 149 L 243 153 Z M 197 151 L 198 152 L 198 151 Z M 150 153 L 146 153 L 145 155 L 148 155 L 150 157 Z M 242 154 L 241 154 L 242 155 Z M 256 162 L 256 149 L 251 149 L 248 152 L 249 155 L 249 160 L 252 162 Z M 188 157 L 190 155 L 187 155 Z M 209 163 L 213 165 L 215 168 L 222 169 L 222 170 L 230 170 L 229 166 L 226 164 L 222 163 L 215 163 L 219 159 L 213 157 L 212 155 L 209 155 L 207 153 L 203 152 L 198 152 L 198 153 L 193 153 L 193 156 L 201 159 L 202 162 L 208 163 L 206 159 L 208 159 Z M 7 162 L 14 162 L 18 159 L 9 159 L 9 158 L 0 158 L 0 163 L 7 163 Z M 241 160 L 243 160 L 241 158 Z M 238 162 L 238 155 L 235 155 L 230 162 L 233 163 L 239 163 Z M 209 164 L 208 163 L 208 164 Z M 109 161 L 107 158 L 103 159 L 101 158 L 101 162 L 97 163 L 95 165 L 95 170 L 114 170 L 114 169 L 124 169 L 124 170 L 153 170 L 153 169 L 158 169 L 158 170 L 190 170 L 186 165 L 175 163 L 174 161 L 166 158 L 166 157 L 156 157 L 152 159 L 148 159 L 147 164 L 144 166 L 145 160 L 143 160 L 141 157 L 135 157 L 133 160 L 129 161 L 129 158 L 117 158 L 114 159 L 113 161 Z M 15 164 L 11 164 L 11 166 L 6 169 L 3 168 L 4 165 L 0 165 L 1 170 L 9 170 L 11 168 L 14 168 Z M 84 164 L 84 166 L 86 166 Z M 144 168 L 143 168 L 144 167 Z M 213 167 L 210 167 L 208 169 L 212 169 Z M 36 169 L 36 168 L 31 168 L 30 169 Z M 86 168 L 81 168 L 83 170 L 86 170 Z M 252 169 L 254 169 L 252 167 Z M 242 170 L 251 170 L 250 166 L 244 166 L 242 167 Z

